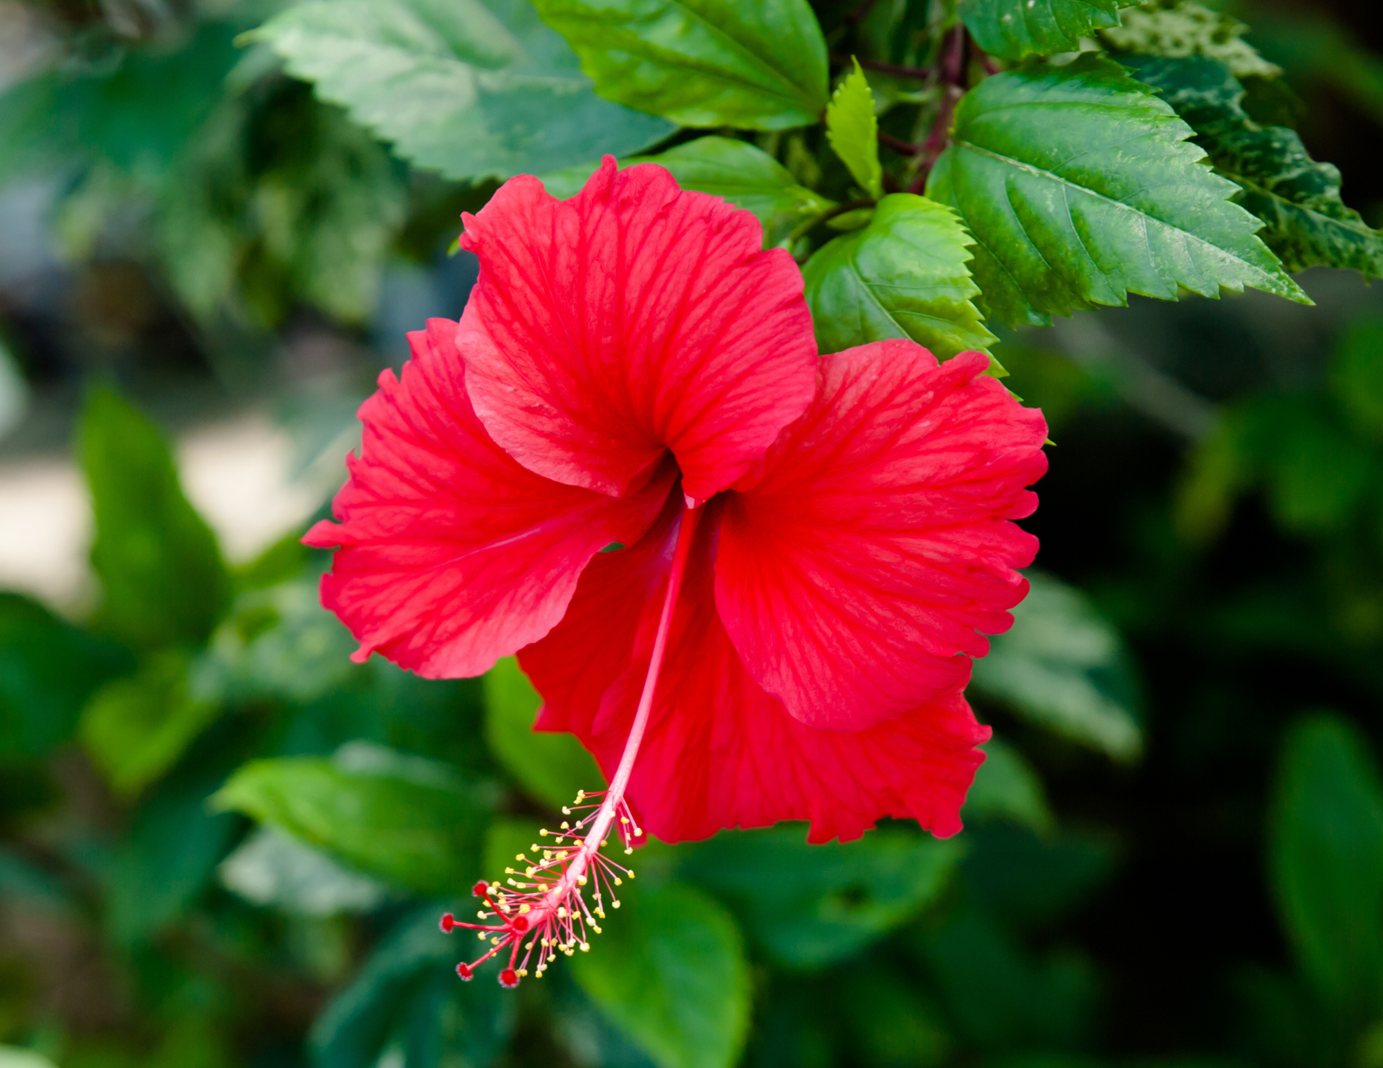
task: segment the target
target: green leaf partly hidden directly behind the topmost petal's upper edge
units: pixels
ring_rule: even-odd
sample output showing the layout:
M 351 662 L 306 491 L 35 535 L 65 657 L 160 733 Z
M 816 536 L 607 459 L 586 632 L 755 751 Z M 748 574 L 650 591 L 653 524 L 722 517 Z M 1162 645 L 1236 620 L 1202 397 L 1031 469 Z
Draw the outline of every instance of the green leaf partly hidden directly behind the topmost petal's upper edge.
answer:
M 763 227 L 765 246 L 776 245 L 804 219 L 820 214 L 835 202 L 798 185 L 787 167 L 761 148 L 732 137 L 698 137 L 656 156 L 621 159 L 620 166 L 657 163 L 667 167 L 683 190 L 723 196 L 736 208 L 752 212 Z M 599 163 L 544 174 L 553 196 L 574 196 Z

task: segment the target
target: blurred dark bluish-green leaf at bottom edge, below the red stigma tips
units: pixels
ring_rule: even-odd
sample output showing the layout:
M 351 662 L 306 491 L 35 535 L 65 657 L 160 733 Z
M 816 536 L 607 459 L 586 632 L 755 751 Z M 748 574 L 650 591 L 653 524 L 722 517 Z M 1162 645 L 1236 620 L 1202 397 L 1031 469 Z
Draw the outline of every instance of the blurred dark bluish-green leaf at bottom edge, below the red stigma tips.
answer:
M 495 1061 L 513 1032 L 517 999 L 485 974 L 456 979 L 456 960 L 474 942 L 438 931 L 441 912 L 441 905 L 427 906 L 404 919 L 326 1006 L 308 1035 L 314 1065 L 481 1068 Z

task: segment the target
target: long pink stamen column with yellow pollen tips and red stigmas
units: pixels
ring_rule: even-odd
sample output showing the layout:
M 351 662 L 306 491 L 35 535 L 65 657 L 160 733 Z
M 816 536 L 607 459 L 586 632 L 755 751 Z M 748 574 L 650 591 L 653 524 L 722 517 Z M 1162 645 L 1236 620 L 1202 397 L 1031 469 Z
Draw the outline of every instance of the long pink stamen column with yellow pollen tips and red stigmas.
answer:
M 545 829 L 539 833 L 539 837 L 550 838 L 550 844 L 539 847 L 534 843 L 527 852 L 514 855 L 519 867 L 505 869 L 508 887 L 499 883 L 476 883 L 473 892 L 487 906 L 480 910 L 477 919 L 491 923 L 461 923 L 451 913 L 443 916 L 443 931 L 466 927 L 477 931 L 481 939 L 490 941 L 488 952 L 469 964 L 456 966 L 456 974 L 462 979 L 469 981 L 476 967 L 505 949 L 509 950 L 509 961 L 499 973 L 501 986 L 517 986 L 519 979 L 528 974 L 528 964 L 535 956 L 534 974 L 541 977 L 557 953 L 570 957 L 578 949 L 582 952 L 591 949 L 589 935 L 600 934 L 607 896 L 611 908 L 620 908 L 615 887 L 622 885 L 625 878 L 633 878 L 633 872 L 611 860 L 600 849 L 609 844 L 611 830 L 624 844 L 625 854 L 632 854 L 635 841 L 643 837 L 633 812 L 624 800 L 624 791 L 629 784 L 639 743 L 649 725 L 658 671 L 662 667 L 672 625 L 672 610 L 682 587 L 698 517 L 700 510 L 694 508 L 685 508 L 682 512 L 678 544 L 672 552 L 672 567 L 662 598 L 662 613 L 658 617 L 658 632 L 649 659 L 649 672 L 610 789 L 589 794 L 578 793 L 575 801 L 561 809 L 561 815 L 570 819 L 564 819 L 556 831 Z M 589 901 L 585 894 L 588 888 Z

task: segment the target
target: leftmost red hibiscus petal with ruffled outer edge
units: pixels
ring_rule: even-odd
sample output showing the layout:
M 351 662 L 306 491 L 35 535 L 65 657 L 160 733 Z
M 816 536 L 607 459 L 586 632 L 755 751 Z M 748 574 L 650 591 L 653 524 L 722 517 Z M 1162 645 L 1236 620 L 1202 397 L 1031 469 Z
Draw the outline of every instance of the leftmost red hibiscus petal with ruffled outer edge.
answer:
M 567 609 L 586 562 L 635 541 L 657 516 L 671 463 L 638 494 L 544 479 L 485 434 L 466 397 L 456 324 L 409 333 L 402 379 L 379 376 L 360 409 L 365 437 L 336 495 L 342 523 L 304 541 L 339 546 L 322 605 L 360 641 L 427 678 L 487 671 L 542 638 Z

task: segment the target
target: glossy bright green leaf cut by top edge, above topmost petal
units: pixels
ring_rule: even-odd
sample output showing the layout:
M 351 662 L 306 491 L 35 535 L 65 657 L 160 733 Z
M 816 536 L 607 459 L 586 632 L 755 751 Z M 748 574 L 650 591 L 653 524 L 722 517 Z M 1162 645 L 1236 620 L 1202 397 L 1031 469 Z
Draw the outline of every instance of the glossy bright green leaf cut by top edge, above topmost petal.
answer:
M 603 97 L 680 126 L 820 119 L 826 39 L 806 0 L 535 0 Z

